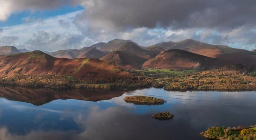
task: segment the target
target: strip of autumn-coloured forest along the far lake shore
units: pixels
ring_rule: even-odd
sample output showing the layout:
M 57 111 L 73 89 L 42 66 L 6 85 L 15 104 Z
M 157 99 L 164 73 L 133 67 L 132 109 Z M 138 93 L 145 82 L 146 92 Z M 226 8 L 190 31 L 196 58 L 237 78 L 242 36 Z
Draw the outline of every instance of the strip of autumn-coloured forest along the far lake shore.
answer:
M 163 71 L 163 70 L 158 70 Z M 167 70 L 163 72 L 166 73 Z M 138 87 L 164 88 L 165 90 L 226 90 L 256 89 L 256 72 L 250 66 L 226 66 L 220 69 L 204 69 L 200 71 L 169 70 L 166 77 L 146 76 L 143 70 L 131 76 L 101 77 L 90 80 L 78 80 L 72 76 L 59 75 L 23 75 L 15 74 L 0 78 L 1 85 L 92 89 L 123 89 Z

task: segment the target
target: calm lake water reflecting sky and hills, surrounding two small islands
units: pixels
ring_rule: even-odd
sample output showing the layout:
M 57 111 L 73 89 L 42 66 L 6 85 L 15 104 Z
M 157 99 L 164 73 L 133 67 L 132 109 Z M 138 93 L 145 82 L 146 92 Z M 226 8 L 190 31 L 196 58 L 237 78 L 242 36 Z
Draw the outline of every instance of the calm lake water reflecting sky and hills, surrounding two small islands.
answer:
M 160 97 L 167 103 L 141 106 L 126 96 Z M 211 126 L 256 124 L 256 92 L 54 91 L 0 87 L 0 140 L 206 140 Z M 153 114 L 170 111 L 159 121 Z

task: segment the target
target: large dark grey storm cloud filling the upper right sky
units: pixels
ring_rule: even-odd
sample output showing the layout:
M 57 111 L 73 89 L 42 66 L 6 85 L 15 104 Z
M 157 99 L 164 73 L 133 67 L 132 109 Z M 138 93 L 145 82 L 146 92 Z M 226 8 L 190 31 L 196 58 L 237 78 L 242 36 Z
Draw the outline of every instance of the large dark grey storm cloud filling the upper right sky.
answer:
M 84 0 L 94 28 L 233 29 L 256 22 L 256 0 Z

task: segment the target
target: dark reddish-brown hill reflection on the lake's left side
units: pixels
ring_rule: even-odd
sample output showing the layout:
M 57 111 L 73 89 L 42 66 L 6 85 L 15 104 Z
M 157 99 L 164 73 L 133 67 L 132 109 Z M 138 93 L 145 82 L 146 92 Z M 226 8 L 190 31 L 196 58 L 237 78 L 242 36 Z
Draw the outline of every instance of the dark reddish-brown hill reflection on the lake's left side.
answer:
M 35 106 L 41 106 L 53 100 L 85 100 L 97 102 L 100 100 L 109 100 L 113 97 L 119 97 L 125 91 L 95 90 L 95 89 L 32 89 L 24 87 L 4 87 L 0 86 L 0 97 L 8 100 L 31 103 Z

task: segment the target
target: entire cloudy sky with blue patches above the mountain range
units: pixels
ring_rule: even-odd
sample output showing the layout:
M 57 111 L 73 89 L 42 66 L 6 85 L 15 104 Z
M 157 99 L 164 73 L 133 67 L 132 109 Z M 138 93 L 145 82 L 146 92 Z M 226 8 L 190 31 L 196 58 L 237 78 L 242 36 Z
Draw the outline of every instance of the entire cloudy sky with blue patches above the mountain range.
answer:
M 57 51 L 115 38 L 256 49 L 256 0 L 0 0 L 0 46 Z

